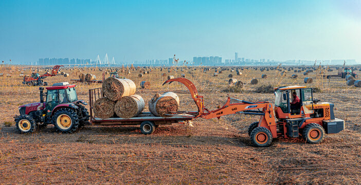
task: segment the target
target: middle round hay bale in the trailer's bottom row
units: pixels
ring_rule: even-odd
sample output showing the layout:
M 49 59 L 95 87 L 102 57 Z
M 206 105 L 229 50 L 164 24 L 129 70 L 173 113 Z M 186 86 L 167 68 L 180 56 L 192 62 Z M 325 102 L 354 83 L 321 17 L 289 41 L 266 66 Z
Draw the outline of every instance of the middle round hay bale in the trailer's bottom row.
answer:
M 114 112 L 120 118 L 132 118 L 140 114 L 146 103 L 139 95 L 121 97 L 115 103 Z

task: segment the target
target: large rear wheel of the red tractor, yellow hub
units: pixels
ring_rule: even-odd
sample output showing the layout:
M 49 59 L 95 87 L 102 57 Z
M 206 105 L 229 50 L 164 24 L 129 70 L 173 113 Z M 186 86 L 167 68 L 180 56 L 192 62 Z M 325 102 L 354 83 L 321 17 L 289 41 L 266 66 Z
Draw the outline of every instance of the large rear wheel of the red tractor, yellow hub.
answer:
M 74 133 L 79 127 L 79 117 L 76 110 L 61 108 L 52 118 L 52 123 L 61 133 Z

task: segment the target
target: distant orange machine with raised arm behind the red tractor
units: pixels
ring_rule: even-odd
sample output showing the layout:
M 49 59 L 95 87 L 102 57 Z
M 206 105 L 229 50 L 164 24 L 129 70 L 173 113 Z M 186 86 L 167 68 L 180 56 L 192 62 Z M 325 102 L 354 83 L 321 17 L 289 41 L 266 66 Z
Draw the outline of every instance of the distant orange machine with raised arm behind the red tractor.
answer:
M 25 76 L 23 80 L 23 84 L 27 86 L 46 86 L 48 85 L 47 82 L 44 82 L 43 79 L 46 77 L 53 77 L 58 75 L 58 70 L 62 65 L 56 65 L 51 71 L 51 74 L 49 72 L 46 72 L 44 75 L 39 75 L 38 72 L 31 73 L 31 76 Z

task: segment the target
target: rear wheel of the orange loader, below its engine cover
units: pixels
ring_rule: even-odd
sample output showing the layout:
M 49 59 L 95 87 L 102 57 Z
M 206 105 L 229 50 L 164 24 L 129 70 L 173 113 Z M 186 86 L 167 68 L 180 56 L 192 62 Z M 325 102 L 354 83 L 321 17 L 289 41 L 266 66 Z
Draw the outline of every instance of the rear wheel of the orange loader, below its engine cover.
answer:
M 307 143 L 320 143 L 324 138 L 324 129 L 319 124 L 310 123 L 303 128 L 302 137 Z

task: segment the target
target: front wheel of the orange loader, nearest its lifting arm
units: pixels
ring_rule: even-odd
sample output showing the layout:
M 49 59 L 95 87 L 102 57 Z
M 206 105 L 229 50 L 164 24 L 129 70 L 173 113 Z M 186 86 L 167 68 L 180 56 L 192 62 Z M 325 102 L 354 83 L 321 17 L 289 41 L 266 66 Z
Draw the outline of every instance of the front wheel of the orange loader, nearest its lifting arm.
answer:
M 250 139 L 257 147 L 269 146 L 272 143 L 272 133 L 265 127 L 257 127 L 251 132 Z

